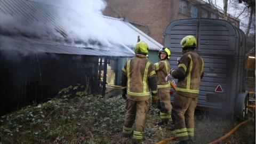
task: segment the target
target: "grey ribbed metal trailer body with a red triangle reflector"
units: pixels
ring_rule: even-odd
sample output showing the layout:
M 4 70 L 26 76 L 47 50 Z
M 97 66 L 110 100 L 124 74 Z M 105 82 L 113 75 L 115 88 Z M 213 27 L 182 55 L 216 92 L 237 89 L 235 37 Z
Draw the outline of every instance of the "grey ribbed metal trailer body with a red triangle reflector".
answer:
M 172 53 L 169 60 L 171 68 L 177 68 L 177 60 L 182 55 L 180 41 L 187 35 L 197 38 L 197 53 L 204 59 L 205 74 L 201 80 L 198 106 L 220 108 L 232 113 L 236 95 L 243 90 L 243 31 L 218 19 L 182 19 L 171 22 L 165 31 L 165 46 L 170 47 Z M 177 83 L 177 79 L 174 81 Z M 223 93 L 215 92 L 218 85 L 221 85 Z

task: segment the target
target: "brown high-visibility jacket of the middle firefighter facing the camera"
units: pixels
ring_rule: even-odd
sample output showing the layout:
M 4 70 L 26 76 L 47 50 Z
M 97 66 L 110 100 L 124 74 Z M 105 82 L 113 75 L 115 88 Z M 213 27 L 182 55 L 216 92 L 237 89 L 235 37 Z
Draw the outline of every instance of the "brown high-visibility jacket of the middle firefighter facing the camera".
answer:
M 168 59 L 161 60 L 154 64 L 156 77 L 157 77 L 157 89 L 171 89 L 170 81 L 165 82 L 165 77 L 169 74 L 170 64 Z

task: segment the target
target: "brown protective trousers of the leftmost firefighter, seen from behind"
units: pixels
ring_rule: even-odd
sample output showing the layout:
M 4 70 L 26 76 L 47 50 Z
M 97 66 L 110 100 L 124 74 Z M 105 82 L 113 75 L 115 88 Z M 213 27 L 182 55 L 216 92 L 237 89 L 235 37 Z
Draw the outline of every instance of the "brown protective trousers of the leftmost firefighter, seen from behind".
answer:
M 133 101 L 126 100 L 126 114 L 124 118 L 123 133 L 131 134 L 133 132 L 133 138 L 142 140 L 144 125 L 146 123 L 146 115 L 149 109 L 149 100 L 146 101 Z M 134 131 L 132 125 L 134 124 Z

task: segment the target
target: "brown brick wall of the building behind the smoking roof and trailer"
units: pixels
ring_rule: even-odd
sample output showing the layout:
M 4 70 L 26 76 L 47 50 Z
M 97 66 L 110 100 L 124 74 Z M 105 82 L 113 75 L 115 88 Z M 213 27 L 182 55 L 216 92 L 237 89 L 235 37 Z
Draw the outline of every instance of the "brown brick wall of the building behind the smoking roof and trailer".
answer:
M 104 15 L 124 18 L 124 20 L 132 22 L 132 25 L 161 44 L 164 44 L 163 34 L 170 22 L 177 19 L 190 18 L 188 17 L 190 15 L 189 10 L 186 15 L 179 13 L 179 0 L 105 1 L 107 2 L 107 7 L 103 11 Z M 198 11 L 200 12 L 200 10 Z

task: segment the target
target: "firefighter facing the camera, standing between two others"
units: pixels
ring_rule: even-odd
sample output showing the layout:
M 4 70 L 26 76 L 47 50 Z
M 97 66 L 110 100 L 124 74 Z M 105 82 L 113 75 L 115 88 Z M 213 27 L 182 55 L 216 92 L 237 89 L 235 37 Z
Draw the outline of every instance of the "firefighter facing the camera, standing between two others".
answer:
M 165 77 L 169 74 L 170 71 L 170 59 L 171 52 L 168 47 L 163 47 L 158 52 L 159 62 L 155 63 L 155 71 L 157 75 L 157 107 L 160 110 L 160 118 L 161 121 L 157 122 L 157 125 L 164 125 L 168 122 L 170 123 L 169 130 L 173 130 L 174 127 L 172 125 L 172 105 L 170 100 L 170 81 L 166 82 Z M 156 99 L 156 98 L 155 98 Z M 154 101 L 153 101 L 154 102 Z

